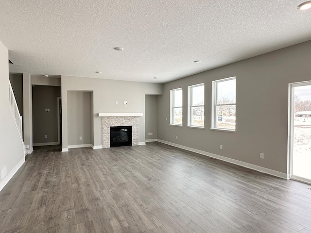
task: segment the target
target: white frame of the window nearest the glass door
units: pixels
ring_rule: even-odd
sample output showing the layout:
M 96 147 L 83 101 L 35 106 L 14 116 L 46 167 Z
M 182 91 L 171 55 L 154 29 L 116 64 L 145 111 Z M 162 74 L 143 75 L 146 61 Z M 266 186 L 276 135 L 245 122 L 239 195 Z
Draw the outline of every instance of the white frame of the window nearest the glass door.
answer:
M 235 101 L 234 104 L 217 104 L 217 83 L 221 83 L 221 82 L 226 82 L 229 80 L 237 80 L 236 77 L 230 77 L 230 78 L 225 78 L 225 79 L 220 79 L 220 80 L 216 80 L 216 81 L 212 81 L 212 125 L 211 125 L 211 130 L 217 130 L 217 131 L 225 131 L 225 132 L 231 132 L 231 133 L 236 133 L 237 131 L 237 126 L 235 126 L 235 129 L 228 129 L 228 128 L 218 128 L 217 127 L 217 119 L 218 116 L 217 115 L 217 106 L 228 106 L 228 105 L 235 105 L 237 104 L 237 101 Z M 237 93 L 237 89 L 235 90 L 235 92 Z M 236 94 L 236 98 L 237 98 L 237 94 Z

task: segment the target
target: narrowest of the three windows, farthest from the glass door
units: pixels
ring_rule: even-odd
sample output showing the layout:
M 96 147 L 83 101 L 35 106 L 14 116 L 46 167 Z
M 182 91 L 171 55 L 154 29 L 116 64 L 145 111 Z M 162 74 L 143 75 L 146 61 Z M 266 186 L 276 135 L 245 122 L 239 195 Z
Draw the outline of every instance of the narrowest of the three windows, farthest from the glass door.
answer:
M 171 124 L 183 124 L 183 89 L 171 90 Z

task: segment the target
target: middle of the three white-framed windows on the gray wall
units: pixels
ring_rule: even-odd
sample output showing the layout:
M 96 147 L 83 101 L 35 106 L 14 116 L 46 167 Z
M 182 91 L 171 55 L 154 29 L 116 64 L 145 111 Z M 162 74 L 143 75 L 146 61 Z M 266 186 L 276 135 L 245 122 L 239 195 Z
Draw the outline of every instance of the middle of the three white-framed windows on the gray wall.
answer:
M 188 126 L 204 127 L 204 83 L 188 86 Z

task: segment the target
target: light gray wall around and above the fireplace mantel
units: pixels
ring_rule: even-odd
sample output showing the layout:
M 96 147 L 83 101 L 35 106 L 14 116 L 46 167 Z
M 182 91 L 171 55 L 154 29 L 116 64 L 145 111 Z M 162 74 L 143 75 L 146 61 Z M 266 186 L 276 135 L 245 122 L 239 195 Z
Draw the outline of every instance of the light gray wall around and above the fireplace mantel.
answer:
M 162 88 L 162 84 L 155 83 L 62 76 L 63 149 L 68 147 L 69 142 L 68 122 L 74 121 L 72 117 L 68 116 L 68 91 L 93 91 L 93 145 L 102 146 L 102 117 L 99 117 L 98 113 L 145 114 L 145 95 L 160 95 Z M 116 100 L 119 104 L 115 104 Z M 127 104 L 123 104 L 123 101 L 127 101 Z M 140 116 L 138 142 L 144 141 L 145 116 Z

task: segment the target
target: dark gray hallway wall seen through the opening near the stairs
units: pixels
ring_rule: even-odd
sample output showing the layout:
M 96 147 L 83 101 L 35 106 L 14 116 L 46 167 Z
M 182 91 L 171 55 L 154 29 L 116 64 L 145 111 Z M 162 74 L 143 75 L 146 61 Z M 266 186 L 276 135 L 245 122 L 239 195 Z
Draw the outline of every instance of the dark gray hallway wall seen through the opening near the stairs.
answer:
M 58 140 L 57 97 L 60 86 L 33 87 L 33 143 L 51 143 Z M 50 112 L 45 112 L 45 109 Z M 47 138 L 44 137 L 47 135 Z

